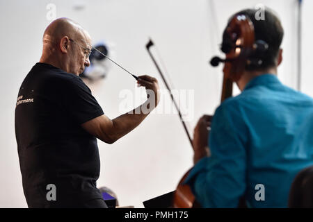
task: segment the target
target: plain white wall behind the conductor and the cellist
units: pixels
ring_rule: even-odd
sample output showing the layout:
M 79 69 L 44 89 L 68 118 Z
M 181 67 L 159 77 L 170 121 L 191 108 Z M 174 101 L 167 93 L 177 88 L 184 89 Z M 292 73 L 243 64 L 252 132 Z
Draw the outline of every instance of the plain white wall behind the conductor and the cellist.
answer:
M 85 27 L 94 42 L 106 40 L 112 46 L 115 60 L 129 71 L 155 76 L 164 88 L 145 51 L 148 37 L 152 37 L 175 88 L 194 90 L 191 106 L 194 118 L 188 122 L 191 131 L 198 118 L 204 113 L 213 114 L 220 101 L 221 67 L 214 69 L 207 61 L 221 55 L 218 51 L 221 33 L 228 17 L 238 10 L 263 3 L 278 12 L 285 31 L 284 62 L 278 77 L 296 88 L 296 0 L 0 0 L 0 207 L 27 207 L 19 171 L 14 111 L 19 86 L 40 58 L 42 34 L 49 24 L 48 3 L 56 5 L 56 17 L 70 17 Z M 85 7 L 75 10 L 77 3 Z M 310 96 L 313 96 L 312 9 L 313 1 L 303 0 L 301 83 L 302 91 Z M 136 87 L 134 78 L 116 66 L 111 67 L 105 80 L 90 87 L 111 118 L 122 114 L 123 89 L 134 92 L 137 100 L 144 91 Z M 139 101 L 134 105 L 138 104 Z M 169 100 L 163 98 L 158 110 L 168 104 Z M 192 149 L 177 114 L 151 114 L 115 144 L 98 144 L 102 164 L 98 186 L 113 189 L 120 205 L 143 207 L 144 200 L 174 190 L 183 173 L 192 166 Z

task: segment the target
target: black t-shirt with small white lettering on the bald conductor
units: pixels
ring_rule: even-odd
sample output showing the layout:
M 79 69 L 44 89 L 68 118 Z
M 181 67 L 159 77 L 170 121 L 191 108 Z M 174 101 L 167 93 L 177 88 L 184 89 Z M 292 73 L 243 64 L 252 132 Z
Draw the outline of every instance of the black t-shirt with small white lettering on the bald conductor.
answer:
M 15 108 L 19 165 L 29 207 L 79 207 L 102 198 L 96 187 L 97 139 L 81 127 L 102 114 L 81 78 L 45 63 L 33 66 Z M 56 200 L 49 191 L 55 191 Z

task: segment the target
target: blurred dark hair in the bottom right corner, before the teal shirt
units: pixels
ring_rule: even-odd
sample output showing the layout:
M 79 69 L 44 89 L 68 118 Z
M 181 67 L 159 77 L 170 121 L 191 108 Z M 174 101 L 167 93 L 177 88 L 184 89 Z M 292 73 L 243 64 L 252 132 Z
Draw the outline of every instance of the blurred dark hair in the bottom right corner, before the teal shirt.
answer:
M 288 207 L 313 207 L 313 167 L 301 170 L 292 182 Z

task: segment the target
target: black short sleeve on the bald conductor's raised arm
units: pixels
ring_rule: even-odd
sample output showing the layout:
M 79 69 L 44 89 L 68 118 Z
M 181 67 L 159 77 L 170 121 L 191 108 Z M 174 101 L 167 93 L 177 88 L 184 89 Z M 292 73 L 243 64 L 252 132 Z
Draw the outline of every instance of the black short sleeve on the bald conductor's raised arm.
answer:
M 81 78 L 73 77 L 63 87 L 63 105 L 67 114 L 79 125 L 104 114 L 91 90 Z

